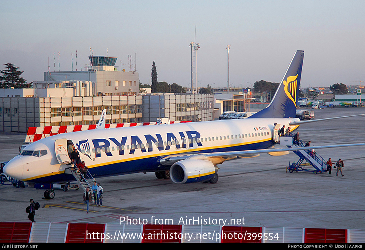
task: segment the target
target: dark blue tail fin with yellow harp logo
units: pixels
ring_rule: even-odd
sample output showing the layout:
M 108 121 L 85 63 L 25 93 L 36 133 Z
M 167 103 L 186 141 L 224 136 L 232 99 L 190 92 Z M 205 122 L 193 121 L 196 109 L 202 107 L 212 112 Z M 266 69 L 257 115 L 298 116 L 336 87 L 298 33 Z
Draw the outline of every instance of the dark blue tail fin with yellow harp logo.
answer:
M 249 118 L 295 117 L 304 51 L 297 50 L 269 106 Z

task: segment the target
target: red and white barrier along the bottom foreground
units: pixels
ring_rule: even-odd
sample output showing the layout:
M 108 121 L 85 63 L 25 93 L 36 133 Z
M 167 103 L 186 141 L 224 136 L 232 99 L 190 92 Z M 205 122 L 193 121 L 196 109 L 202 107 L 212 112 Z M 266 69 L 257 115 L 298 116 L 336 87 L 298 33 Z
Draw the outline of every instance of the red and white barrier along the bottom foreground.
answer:
M 363 243 L 365 230 L 181 224 L 0 222 L 0 235 L 2 244 L 176 242 L 323 245 Z

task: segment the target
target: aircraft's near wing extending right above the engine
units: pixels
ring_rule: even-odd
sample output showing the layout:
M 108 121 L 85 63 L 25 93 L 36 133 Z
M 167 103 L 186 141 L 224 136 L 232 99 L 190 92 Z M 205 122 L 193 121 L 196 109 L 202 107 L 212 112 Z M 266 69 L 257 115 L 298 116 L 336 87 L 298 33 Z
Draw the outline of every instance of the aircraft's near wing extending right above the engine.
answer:
M 210 160 L 214 164 L 223 163 L 223 161 L 239 158 L 250 158 L 259 156 L 260 153 L 273 153 L 273 152 L 290 152 L 299 150 L 310 150 L 320 148 L 338 148 L 338 147 L 353 147 L 353 146 L 365 146 L 365 143 L 356 144 L 339 144 L 339 145 L 328 145 L 328 146 L 314 146 L 314 147 L 296 147 L 293 148 L 269 148 L 269 149 L 256 149 L 256 150 L 243 150 L 233 152 L 214 152 L 214 153 L 190 153 L 190 154 L 179 154 L 166 156 L 160 160 L 161 165 L 172 165 L 177 161 L 185 159 L 205 159 Z

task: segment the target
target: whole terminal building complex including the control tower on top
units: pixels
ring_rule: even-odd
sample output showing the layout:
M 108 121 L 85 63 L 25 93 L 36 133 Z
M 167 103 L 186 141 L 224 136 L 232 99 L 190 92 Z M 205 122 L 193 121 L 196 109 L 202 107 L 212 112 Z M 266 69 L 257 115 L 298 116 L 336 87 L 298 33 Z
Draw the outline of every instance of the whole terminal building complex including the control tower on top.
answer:
M 87 71 L 45 72 L 30 89 L 0 89 L 0 132 L 28 127 L 213 120 L 213 94 L 139 94 L 136 72 L 118 71 L 116 59 L 89 56 Z

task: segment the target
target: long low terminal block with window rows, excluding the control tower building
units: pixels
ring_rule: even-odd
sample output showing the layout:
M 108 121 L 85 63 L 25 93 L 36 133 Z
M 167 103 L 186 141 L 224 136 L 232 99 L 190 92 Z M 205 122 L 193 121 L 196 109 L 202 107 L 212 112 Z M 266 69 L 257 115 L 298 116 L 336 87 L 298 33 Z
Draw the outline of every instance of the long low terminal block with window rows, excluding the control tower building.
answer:
M 0 132 L 25 133 L 28 127 L 35 126 L 97 124 L 103 109 L 107 110 L 107 124 L 155 122 L 160 117 L 170 121 L 213 120 L 213 94 L 48 97 L 52 91 L 45 93 L 45 97 L 0 97 Z

